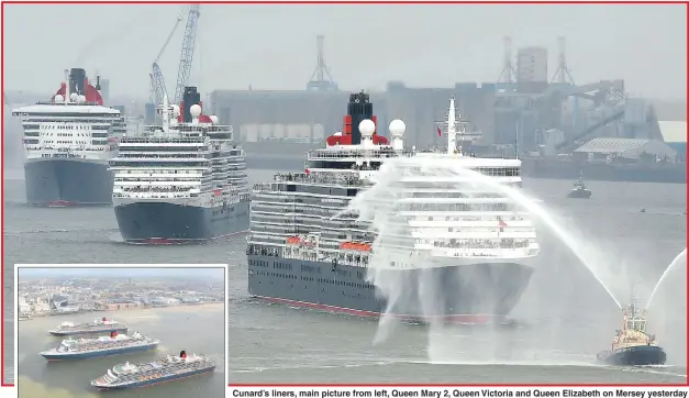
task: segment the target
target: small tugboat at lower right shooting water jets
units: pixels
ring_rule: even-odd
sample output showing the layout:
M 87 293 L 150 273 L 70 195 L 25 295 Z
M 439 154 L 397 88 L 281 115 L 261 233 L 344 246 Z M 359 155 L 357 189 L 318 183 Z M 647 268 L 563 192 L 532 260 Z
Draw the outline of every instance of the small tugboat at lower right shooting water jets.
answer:
M 612 340 L 610 351 L 598 353 L 598 361 L 615 366 L 664 365 L 667 358 L 655 334 L 646 333 L 646 310 L 638 312 L 635 303 L 623 310 L 622 330 Z

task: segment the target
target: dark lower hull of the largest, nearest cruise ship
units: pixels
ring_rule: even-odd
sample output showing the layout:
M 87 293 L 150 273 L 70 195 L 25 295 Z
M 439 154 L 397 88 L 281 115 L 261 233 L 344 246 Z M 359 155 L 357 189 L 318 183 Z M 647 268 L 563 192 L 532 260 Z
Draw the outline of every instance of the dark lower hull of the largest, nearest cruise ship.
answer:
M 377 297 L 375 287 L 366 281 L 364 267 L 249 252 L 248 292 L 290 306 L 362 317 L 387 312 L 411 321 L 435 318 L 489 323 L 504 320 L 529 285 L 532 272 L 532 266 L 514 262 L 379 270 L 377 277 L 397 280 L 403 291 L 388 309 L 386 300 Z

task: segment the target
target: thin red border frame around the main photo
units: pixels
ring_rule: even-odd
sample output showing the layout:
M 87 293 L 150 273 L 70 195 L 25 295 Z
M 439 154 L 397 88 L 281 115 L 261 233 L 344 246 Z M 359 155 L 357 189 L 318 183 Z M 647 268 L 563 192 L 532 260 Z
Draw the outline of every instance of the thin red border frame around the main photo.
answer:
M 0 71 L 2 73 L 2 77 L 0 77 L 0 84 L 3 88 L 4 93 L 4 5 L 5 4 L 188 4 L 190 1 L 179 1 L 179 0 L 163 0 L 163 1 L 116 1 L 116 0 L 104 0 L 104 1 L 75 1 L 75 0 L 57 0 L 57 1 L 25 1 L 25 0 L 10 0 L 2 1 L 0 7 L 0 26 L 2 27 L 2 43 L 0 44 L 0 51 L 2 52 L 2 66 L 0 67 Z M 591 1 L 591 0 L 581 0 L 581 1 L 442 1 L 442 0 L 333 0 L 333 1 L 308 1 L 308 0 L 267 0 L 267 1 L 256 1 L 256 0 L 240 0 L 240 1 L 196 1 L 201 4 L 685 4 L 687 7 L 686 13 L 687 19 L 689 20 L 689 0 L 685 1 L 620 1 L 620 2 L 601 2 L 601 1 Z M 688 32 L 689 33 L 689 32 Z M 688 34 L 689 35 L 689 34 Z M 689 64 L 689 52 L 687 55 L 687 62 Z M 689 82 L 687 85 L 687 91 L 689 91 Z M 4 95 L 2 96 L 2 111 L 0 111 L 0 119 L 4 121 Z M 688 109 L 689 113 L 689 102 Z M 4 154 L 4 130 L 0 132 L 0 137 L 2 142 L 0 143 L 0 151 Z M 687 169 L 689 170 L 689 163 Z M 2 156 L 2 164 L 0 165 L 0 174 L 2 180 L 0 181 L 0 190 L 1 190 L 1 200 L 4 204 L 4 156 Z M 689 189 L 687 189 L 687 196 L 689 197 Z M 2 224 L 2 229 L 4 231 L 4 208 L 0 215 L 0 223 Z M 687 223 L 689 223 L 689 215 L 687 217 Z M 689 243 L 689 236 L 688 236 Z M 689 244 L 688 244 L 689 246 Z M 0 288 L 2 289 L 2 294 L 4 295 L 4 234 L 0 239 L 0 254 L 2 254 L 2 259 L 0 261 Z M 687 285 L 689 285 L 689 274 L 687 276 Z M 4 300 L 3 300 L 4 301 Z M 689 307 L 689 295 L 687 295 L 687 305 Z M 4 305 L 0 309 L 0 314 L 4 320 Z M 687 317 L 687 325 L 689 327 L 689 316 Z M 2 323 L 2 328 L 0 328 L 0 344 L 4 350 L 4 321 Z M 689 346 L 687 349 L 687 361 L 689 367 Z M 4 355 L 0 358 L 0 372 L 2 373 L 0 379 L 0 387 L 14 387 L 14 384 L 4 383 Z M 645 384 L 645 385 L 630 385 L 630 384 L 567 384 L 568 386 L 577 386 L 577 387 L 687 387 L 689 386 L 689 379 L 685 384 Z M 563 386 L 563 384 L 505 384 L 505 385 L 496 385 L 496 384 L 229 384 L 229 387 L 556 387 Z

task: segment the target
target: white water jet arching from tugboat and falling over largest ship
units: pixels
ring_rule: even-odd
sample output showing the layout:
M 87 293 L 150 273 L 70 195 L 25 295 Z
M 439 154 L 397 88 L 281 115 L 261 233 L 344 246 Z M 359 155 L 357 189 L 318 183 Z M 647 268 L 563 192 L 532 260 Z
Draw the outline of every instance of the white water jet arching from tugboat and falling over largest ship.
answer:
M 470 158 L 462 157 L 452 158 L 431 158 L 425 156 L 416 156 L 412 158 L 393 158 L 387 161 L 377 174 L 373 176 L 375 185 L 357 195 L 349 202 L 348 207 L 334 215 L 341 218 L 344 214 L 357 214 L 358 221 L 368 225 L 376 233 L 376 240 L 373 243 L 373 256 L 369 261 L 367 279 L 376 285 L 377 292 L 385 297 L 387 308 L 380 318 L 380 324 L 375 342 L 385 340 L 393 324 L 392 313 L 400 313 L 400 308 L 413 308 L 418 312 L 423 313 L 425 320 L 433 328 L 440 324 L 434 321 L 435 317 L 443 311 L 443 302 L 438 302 L 440 292 L 446 289 L 445 286 L 437 286 L 437 280 L 432 280 L 431 269 L 434 267 L 434 258 L 430 251 L 414 248 L 414 228 L 410 225 L 410 221 L 400 214 L 399 203 L 404 198 L 410 198 L 410 187 L 404 186 L 404 180 L 421 178 L 424 184 L 438 185 L 434 188 L 436 191 L 447 189 L 448 191 L 460 191 L 466 195 L 469 202 L 475 200 L 476 203 L 492 203 L 490 198 L 485 196 L 471 197 L 471 194 L 498 194 L 504 199 L 516 204 L 518 208 L 526 210 L 529 213 L 538 218 L 547 228 L 577 256 L 577 258 L 591 272 L 593 277 L 601 284 L 603 289 L 610 295 L 615 305 L 622 308 L 620 301 L 609 289 L 603 278 L 614 278 L 613 275 L 603 275 L 602 269 L 594 258 L 586 253 L 590 252 L 590 245 L 586 242 L 576 242 L 571 235 L 555 221 L 555 219 L 535 200 L 527 198 L 519 188 L 504 185 L 500 180 L 485 176 L 479 172 L 467 168 L 469 165 L 463 165 L 464 162 L 471 163 Z M 476 167 L 476 164 L 474 164 Z M 437 177 L 434 179 L 434 177 Z M 412 189 L 413 190 L 413 189 Z M 480 198 L 480 199 L 479 199 Z M 494 197 L 493 197 L 494 198 Z M 441 198 L 433 198 L 441 199 Z M 442 201 L 442 200 L 441 200 Z M 489 214 L 489 213 L 488 213 Z M 456 215 L 456 214 L 455 214 Z M 459 225 L 457 225 L 459 226 Z M 394 248 L 393 241 L 407 239 L 405 244 L 399 244 L 399 248 Z M 459 263 L 462 258 L 457 258 L 456 266 L 462 267 Z M 467 259 L 466 257 L 464 258 Z M 475 263 L 496 262 L 498 257 L 490 259 L 474 257 Z M 408 264 L 410 268 L 418 269 L 414 278 L 404 277 L 407 273 L 391 273 L 389 270 L 390 263 Z M 386 269 L 387 270 L 384 270 Z M 529 278 L 529 276 L 526 276 Z M 607 279 L 610 280 L 610 279 Z M 466 283 L 466 281 L 465 281 Z M 474 286 L 485 283 L 485 286 Z M 462 286 L 463 289 L 490 289 L 493 280 L 484 280 L 478 278 L 471 280 L 470 285 Z M 443 281 L 440 281 L 442 285 Z M 525 286 L 525 285 L 524 285 Z M 413 292 L 413 294 L 412 294 Z M 521 290 L 516 292 L 521 296 Z M 457 292 L 459 294 L 459 291 Z M 442 301 L 442 299 L 440 300 Z M 394 309 L 394 311 L 392 311 Z

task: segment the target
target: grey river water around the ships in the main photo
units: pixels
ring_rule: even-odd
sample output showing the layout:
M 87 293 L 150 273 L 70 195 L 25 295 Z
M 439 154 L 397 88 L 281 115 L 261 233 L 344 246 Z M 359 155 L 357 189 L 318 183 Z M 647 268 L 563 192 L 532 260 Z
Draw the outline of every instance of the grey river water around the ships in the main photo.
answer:
M 258 181 L 270 174 L 253 172 L 249 178 Z M 590 200 L 573 200 L 565 199 L 570 181 L 524 183 L 568 220 L 568 228 L 576 224 L 608 254 L 627 263 L 649 294 L 686 247 L 686 186 L 589 185 Z M 429 335 L 425 327 L 407 324 L 391 341 L 373 346 L 375 321 L 247 298 L 243 235 L 202 246 L 125 245 L 112 209 L 30 209 L 23 206 L 21 180 L 5 180 L 5 272 L 15 263 L 230 263 L 231 383 L 686 383 L 685 267 L 668 278 L 649 313 L 649 329 L 668 351 L 668 366 L 593 365 L 596 353 L 610 345 L 619 329 L 621 312 L 589 272 L 546 233 L 541 234 L 538 269 L 513 312 L 527 328 L 452 328 Z M 646 213 L 640 213 L 642 207 Z M 9 283 L 5 295 L 11 295 Z M 11 336 L 5 334 L 5 342 L 11 353 Z

